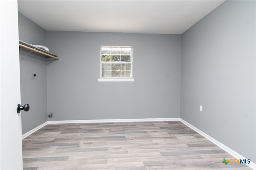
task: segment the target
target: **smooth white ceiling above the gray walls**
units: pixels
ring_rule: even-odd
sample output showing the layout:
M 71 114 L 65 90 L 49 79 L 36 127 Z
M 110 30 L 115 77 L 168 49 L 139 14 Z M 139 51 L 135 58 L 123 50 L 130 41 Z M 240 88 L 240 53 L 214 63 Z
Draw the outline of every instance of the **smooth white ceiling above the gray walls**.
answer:
M 224 0 L 18 0 L 46 30 L 182 34 Z

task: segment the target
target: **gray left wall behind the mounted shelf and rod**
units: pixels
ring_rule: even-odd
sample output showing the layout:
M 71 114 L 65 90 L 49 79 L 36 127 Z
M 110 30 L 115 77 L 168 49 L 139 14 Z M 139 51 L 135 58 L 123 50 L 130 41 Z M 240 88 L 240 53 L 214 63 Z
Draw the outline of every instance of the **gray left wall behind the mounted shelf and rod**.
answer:
M 21 41 L 46 45 L 44 29 L 20 13 L 18 20 Z M 22 134 L 47 121 L 46 61 L 38 53 L 27 55 L 29 52 L 20 49 L 21 104 L 30 105 L 28 112 L 22 111 Z

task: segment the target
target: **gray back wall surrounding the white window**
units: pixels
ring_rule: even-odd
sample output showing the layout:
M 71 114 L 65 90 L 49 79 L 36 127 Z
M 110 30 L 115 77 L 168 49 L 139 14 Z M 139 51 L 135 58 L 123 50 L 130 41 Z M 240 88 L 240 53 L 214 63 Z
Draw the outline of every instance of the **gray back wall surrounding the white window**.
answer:
M 48 120 L 180 117 L 180 35 L 47 31 Z M 97 82 L 100 45 L 133 46 L 135 82 Z

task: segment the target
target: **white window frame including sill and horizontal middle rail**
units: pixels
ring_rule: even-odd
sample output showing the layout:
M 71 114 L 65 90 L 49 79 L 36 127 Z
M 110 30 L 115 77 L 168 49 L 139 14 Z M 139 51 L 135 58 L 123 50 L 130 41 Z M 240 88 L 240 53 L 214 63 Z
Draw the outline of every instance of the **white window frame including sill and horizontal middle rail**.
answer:
M 100 78 L 98 78 L 98 82 L 134 82 L 134 78 L 133 78 L 133 52 L 131 51 L 131 61 L 130 62 L 125 62 L 125 63 L 130 63 L 131 64 L 131 77 L 102 77 L 102 62 L 101 61 L 101 49 L 102 47 L 107 47 L 107 48 L 132 48 L 133 51 L 133 47 L 132 46 L 106 46 L 106 45 L 101 45 L 100 46 Z M 121 54 L 122 55 L 122 54 Z M 111 58 L 111 57 L 110 57 Z M 118 61 L 118 62 L 111 62 L 112 63 L 117 63 L 117 64 L 122 64 L 122 61 Z M 111 71 L 111 70 L 110 70 Z

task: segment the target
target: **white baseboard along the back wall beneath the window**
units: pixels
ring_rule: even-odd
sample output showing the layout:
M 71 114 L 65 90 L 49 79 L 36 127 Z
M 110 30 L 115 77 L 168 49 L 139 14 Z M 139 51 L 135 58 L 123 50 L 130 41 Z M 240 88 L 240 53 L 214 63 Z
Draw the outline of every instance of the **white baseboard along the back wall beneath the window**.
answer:
M 112 123 L 112 122 L 142 122 L 142 121 L 180 121 L 180 118 L 63 120 L 63 121 L 48 121 L 48 124 L 62 124 L 62 123 Z

